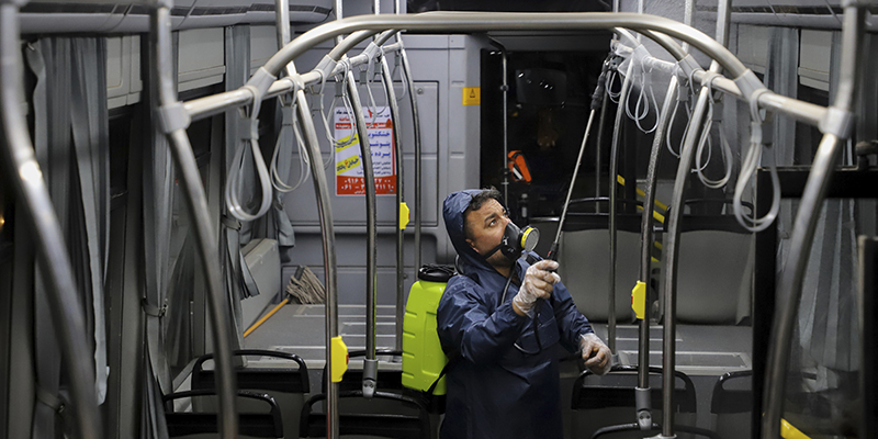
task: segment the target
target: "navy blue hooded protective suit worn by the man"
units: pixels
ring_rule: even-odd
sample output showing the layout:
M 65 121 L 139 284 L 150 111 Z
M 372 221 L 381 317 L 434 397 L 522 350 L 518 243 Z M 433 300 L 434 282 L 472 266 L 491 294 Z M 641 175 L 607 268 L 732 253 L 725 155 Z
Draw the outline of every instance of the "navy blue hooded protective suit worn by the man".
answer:
M 455 192 L 442 215 L 465 275 L 451 278 L 439 302 L 437 331 L 449 358 L 460 356 L 447 375 L 448 397 L 441 438 L 561 438 L 561 398 L 556 346 L 574 352 L 581 335 L 593 333 L 567 292 L 558 283 L 552 299 L 538 305 L 533 318 L 513 311 L 516 282 L 506 278 L 466 244 L 463 212 L 479 190 Z M 534 255 L 536 256 L 536 255 Z M 514 270 L 525 278 L 529 264 Z M 459 353 L 458 353 L 459 352 Z

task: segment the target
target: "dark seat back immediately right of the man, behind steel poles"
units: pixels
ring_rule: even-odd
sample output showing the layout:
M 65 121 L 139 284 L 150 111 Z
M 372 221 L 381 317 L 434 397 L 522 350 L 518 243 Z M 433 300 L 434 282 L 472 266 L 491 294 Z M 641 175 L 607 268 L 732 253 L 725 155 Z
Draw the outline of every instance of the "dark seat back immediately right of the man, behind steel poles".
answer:
M 697 399 L 691 379 L 675 371 L 674 406 L 676 425 L 694 427 Z M 595 375 L 584 371 L 573 383 L 571 409 L 571 437 L 589 438 L 610 426 L 626 426 L 637 420 L 634 387 L 638 384 L 635 365 L 614 365 L 606 375 Z M 650 387 L 653 421 L 661 420 L 662 414 L 662 369 L 650 368 Z M 623 429 L 609 435 L 610 438 L 643 438 L 639 430 Z M 649 435 L 654 436 L 654 432 Z M 679 435 L 680 438 L 687 435 Z

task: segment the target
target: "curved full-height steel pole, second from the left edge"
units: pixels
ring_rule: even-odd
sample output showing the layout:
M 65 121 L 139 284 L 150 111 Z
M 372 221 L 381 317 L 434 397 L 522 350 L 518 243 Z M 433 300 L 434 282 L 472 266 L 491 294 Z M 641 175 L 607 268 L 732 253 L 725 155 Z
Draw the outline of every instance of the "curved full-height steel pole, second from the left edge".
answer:
M 171 45 L 171 15 L 168 4 L 161 4 L 150 12 L 149 47 L 153 58 L 154 76 L 157 79 L 157 92 L 161 108 L 158 109 L 175 162 L 177 164 L 180 179 L 183 184 L 183 194 L 189 214 L 196 227 L 195 243 L 201 254 L 202 270 L 207 282 L 207 306 L 211 315 L 211 329 L 213 331 L 214 351 L 216 354 L 216 372 L 218 376 L 219 407 L 223 413 L 218 417 L 219 431 L 223 438 L 235 438 L 238 435 L 238 416 L 235 410 L 235 394 L 237 386 L 232 369 L 232 325 L 228 307 L 225 306 L 226 294 L 223 290 L 222 274 L 219 272 L 219 249 L 216 235 L 211 225 L 211 214 L 207 210 L 207 196 L 201 185 L 201 176 L 195 162 L 195 155 L 189 144 L 185 126 L 189 115 L 183 110 L 182 103 L 177 100 L 173 89 L 172 45 Z

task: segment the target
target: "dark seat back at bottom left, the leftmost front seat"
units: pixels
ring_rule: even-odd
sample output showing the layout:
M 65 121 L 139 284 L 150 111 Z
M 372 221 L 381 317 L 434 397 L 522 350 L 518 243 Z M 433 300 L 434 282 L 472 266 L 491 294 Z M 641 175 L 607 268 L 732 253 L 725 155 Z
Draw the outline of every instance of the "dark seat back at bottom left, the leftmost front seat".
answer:
M 200 399 L 216 397 L 216 392 L 198 390 L 178 392 L 161 397 L 166 405 L 165 420 L 168 425 L 168 436 L 172 438 L 215 438 L 217 434 L 216 412 L 173 412 L 172 401 L 181 398 Z M 259 408 L 245 409 L 241 403 L 248 401 L 256 403 Z M 283 438 L 283 420 L 278 403 L 270 395 L 259 392 L 238 391 L 238 437 L 240 438 Z M 252 405 L 248 405 L 252 406 Z M 268 412 L 266 410 L 268 407 Z

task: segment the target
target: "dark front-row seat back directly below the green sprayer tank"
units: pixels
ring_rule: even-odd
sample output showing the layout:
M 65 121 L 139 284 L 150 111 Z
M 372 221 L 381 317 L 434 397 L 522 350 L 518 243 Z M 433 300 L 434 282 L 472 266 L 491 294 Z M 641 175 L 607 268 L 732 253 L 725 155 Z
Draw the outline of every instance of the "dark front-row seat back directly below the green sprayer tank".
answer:
M 300 436 L 303 438 L 326 437 L 326 414 L 314 412 L 315 404 L 326 395 L 314 395 L 302 407 Z M 353 402 L 357 409 L 349 407 Z M 393 402 L 392 410 L 362 413 L 363 403 Z M 384 405 L 384 404 L 382 404 Z M 371 399 L 364 399 L 361 391 L 339 392 L 338 428 L 344 437 L 424 439 L 431 437 L 430 415 L 427 407 L 416 398 L 375 391 Z

